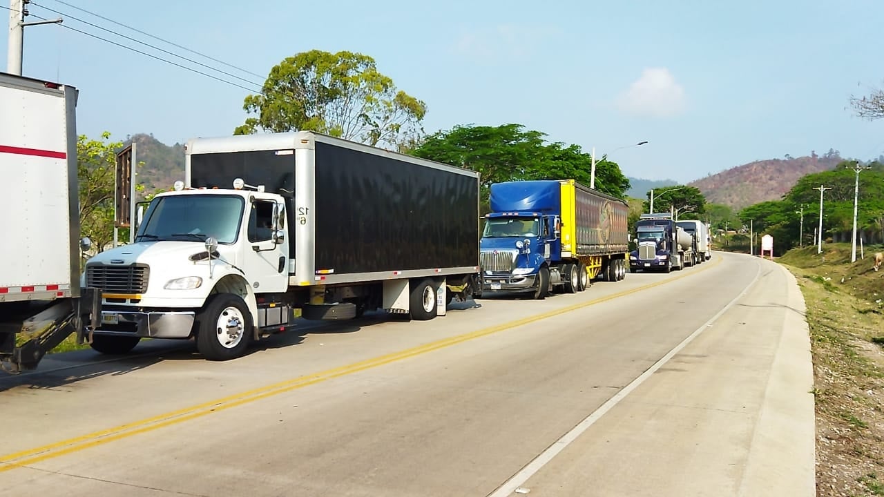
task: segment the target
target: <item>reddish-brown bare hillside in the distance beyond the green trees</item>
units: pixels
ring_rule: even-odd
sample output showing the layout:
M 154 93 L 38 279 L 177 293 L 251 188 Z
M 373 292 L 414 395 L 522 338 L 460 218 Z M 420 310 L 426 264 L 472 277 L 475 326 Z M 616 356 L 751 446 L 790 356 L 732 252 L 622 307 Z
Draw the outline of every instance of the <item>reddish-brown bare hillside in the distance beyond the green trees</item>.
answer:
M 813 172 L 833 169 L 842 161 L 840 154 L 833 149 L 818 156 L 767 159 L 738 165 L 727 171 L 706 176 L 702 180 L 691 181 L 710 203 L 723 203 L 734 210 L 753 203 L 767 200 L 780 200 L 802 176 Z

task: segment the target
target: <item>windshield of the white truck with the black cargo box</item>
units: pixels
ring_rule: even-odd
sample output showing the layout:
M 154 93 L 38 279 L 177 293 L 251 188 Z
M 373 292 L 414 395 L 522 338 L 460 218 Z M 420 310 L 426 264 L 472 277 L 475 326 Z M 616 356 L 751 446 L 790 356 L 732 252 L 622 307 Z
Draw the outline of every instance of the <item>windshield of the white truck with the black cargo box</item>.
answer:
M 235 195 L 162 196 L 150 203 L 135 241 L 204 241 L 233 243 L 240 233 L 245 202 Z

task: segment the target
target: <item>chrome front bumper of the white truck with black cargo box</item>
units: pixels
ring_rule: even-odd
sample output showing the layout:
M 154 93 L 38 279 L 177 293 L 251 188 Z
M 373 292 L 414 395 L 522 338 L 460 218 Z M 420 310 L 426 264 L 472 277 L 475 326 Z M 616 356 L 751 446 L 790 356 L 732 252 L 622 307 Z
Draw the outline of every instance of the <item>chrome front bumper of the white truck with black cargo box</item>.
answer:
M 102 310 L 96 334 L 148 338 L 189 338 L 195 310 Z

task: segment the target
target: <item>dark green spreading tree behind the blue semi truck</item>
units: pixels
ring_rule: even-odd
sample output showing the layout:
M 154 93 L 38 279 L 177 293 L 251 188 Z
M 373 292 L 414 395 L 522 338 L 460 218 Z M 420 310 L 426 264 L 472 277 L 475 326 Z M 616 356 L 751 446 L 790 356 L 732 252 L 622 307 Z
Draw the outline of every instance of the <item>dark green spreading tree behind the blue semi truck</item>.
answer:
M 590 154 L 577 145 L 545 141 L 520 124 L 454 126 L 423 139 L 410 153 L 480 173 L 484 196 L 492 183 L 573 179 L 589 186 Z M 596 164 L 596 189 L 623 198 L 629 180 L 611 161 Z

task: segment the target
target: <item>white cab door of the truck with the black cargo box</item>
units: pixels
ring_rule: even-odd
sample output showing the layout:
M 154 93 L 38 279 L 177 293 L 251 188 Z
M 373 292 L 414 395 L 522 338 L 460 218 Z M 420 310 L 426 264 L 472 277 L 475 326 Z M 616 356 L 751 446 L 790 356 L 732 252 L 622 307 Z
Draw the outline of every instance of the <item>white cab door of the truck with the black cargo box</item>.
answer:
M 284 233 L 285 204 L 255 199 L 248 215 L 242 268 L 255 293 L 285 292 L 288 287 L 289 240 Z

